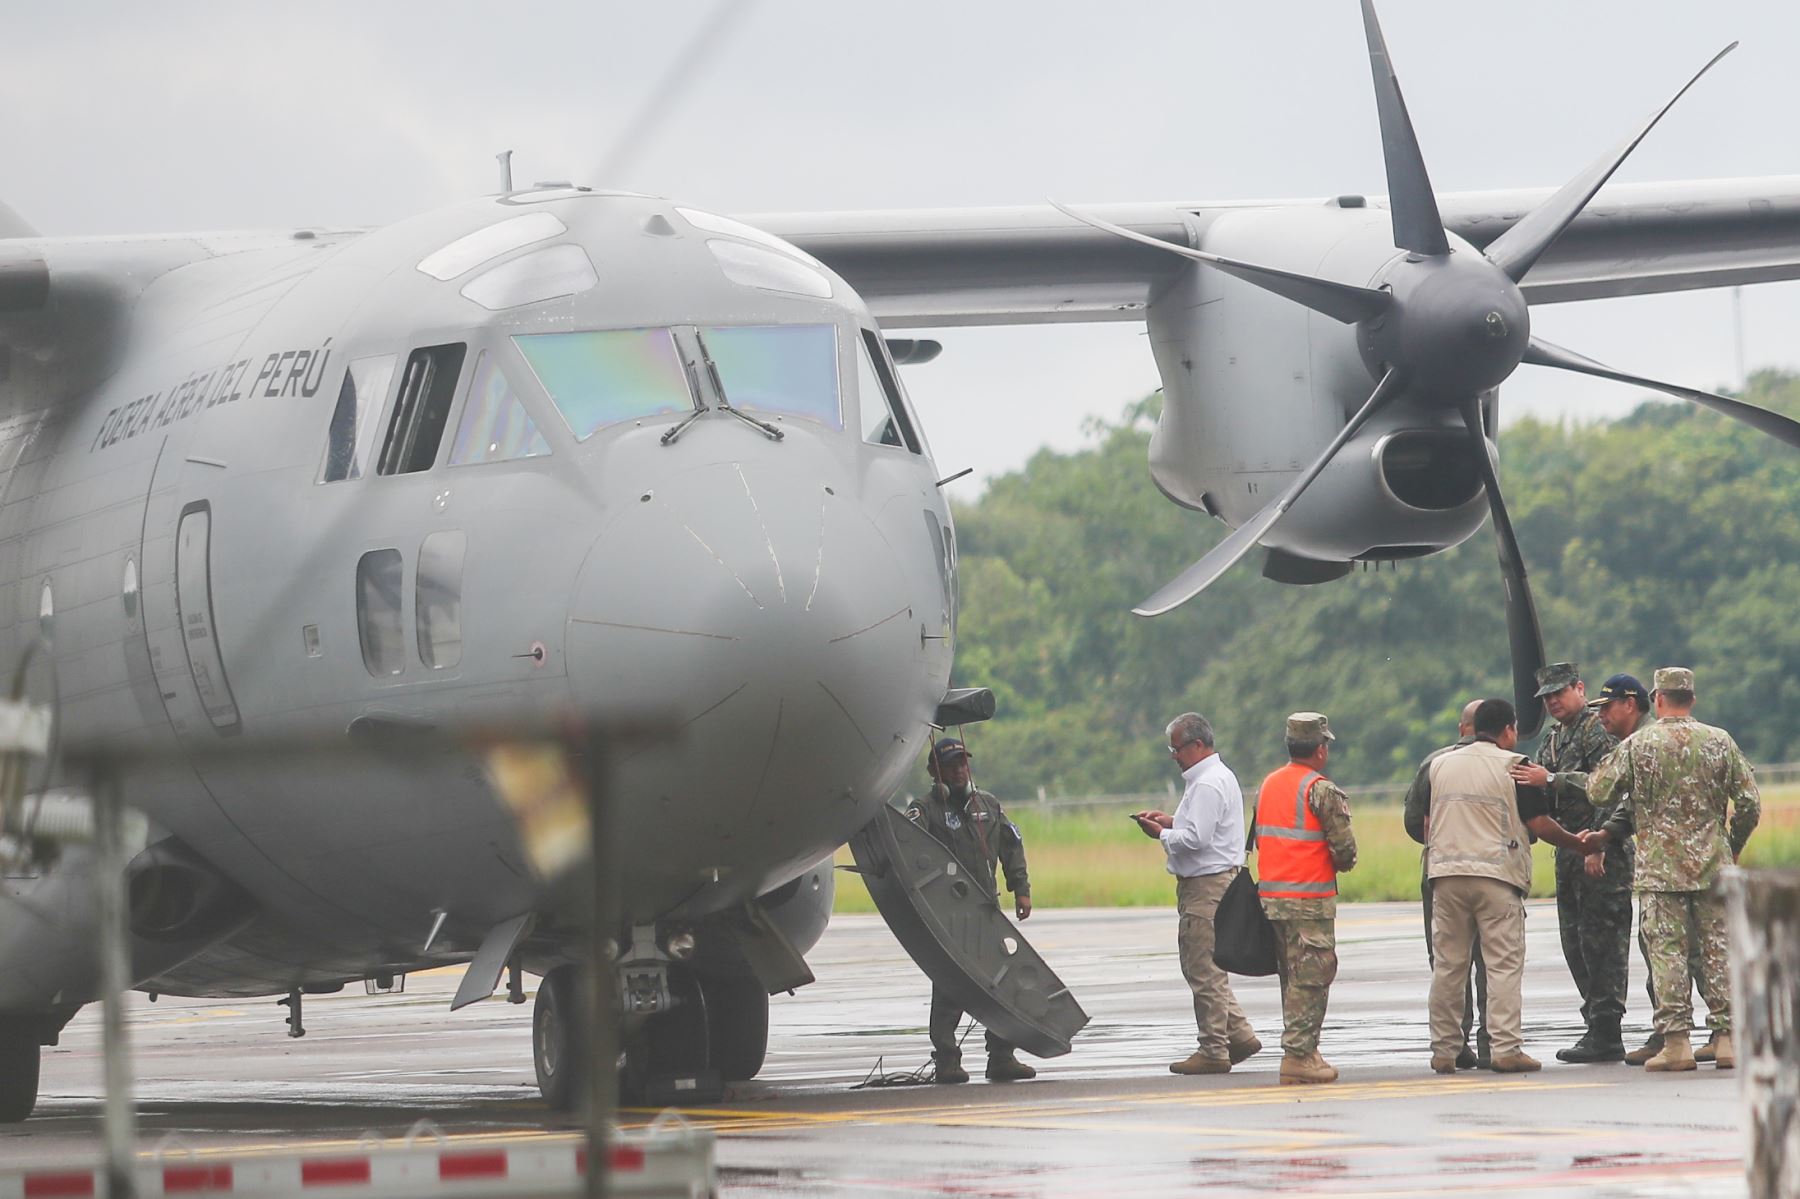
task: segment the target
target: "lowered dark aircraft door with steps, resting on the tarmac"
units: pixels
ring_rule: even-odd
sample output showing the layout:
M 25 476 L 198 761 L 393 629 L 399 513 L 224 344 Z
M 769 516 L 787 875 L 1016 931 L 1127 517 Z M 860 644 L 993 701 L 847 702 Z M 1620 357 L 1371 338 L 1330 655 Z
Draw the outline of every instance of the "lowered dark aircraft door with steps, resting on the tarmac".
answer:
M 936 837 L 887 805 L 850 839 L 850 852 L 875 907 L 925 978 L 1026 1053 L 1069 1051 L 1087 1012 L 985 880 L 970 879 Z

